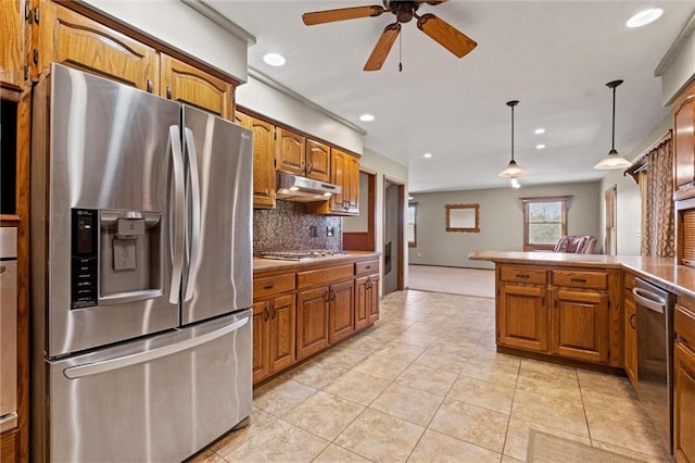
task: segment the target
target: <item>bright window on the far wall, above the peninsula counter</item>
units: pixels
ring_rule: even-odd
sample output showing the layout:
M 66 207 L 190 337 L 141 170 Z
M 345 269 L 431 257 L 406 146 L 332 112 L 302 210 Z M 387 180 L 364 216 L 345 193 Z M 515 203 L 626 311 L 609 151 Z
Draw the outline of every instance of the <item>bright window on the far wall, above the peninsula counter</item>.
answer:
M 571 197 L 522 198 L 523 250 L 553 250 L 567 235 L 567 202 Z

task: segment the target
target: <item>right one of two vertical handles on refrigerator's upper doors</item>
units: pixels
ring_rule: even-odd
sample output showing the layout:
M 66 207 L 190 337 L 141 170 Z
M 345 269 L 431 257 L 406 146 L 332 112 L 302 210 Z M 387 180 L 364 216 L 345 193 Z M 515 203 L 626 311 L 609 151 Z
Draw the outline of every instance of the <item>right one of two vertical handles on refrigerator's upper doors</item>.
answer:
M 184 136 L 186 139 L 186 149 L 188 151 L 186 160 L 188 162 L 188 172 L 190 175 L 190 193 L 192 201 L 190 224 L 191 236 L 189 240 L 189 270 L 188 277 L 186 278 L 186 292 L 184 300 L 190 301 L 193 298 L 193 289 L 195 287 L 194 281 L 198 275 L 198 264 L 200 260 L 200 176 L 198 174 L 198 154 L 195 152 L 193 133 L 190 128 L 185 127 Z

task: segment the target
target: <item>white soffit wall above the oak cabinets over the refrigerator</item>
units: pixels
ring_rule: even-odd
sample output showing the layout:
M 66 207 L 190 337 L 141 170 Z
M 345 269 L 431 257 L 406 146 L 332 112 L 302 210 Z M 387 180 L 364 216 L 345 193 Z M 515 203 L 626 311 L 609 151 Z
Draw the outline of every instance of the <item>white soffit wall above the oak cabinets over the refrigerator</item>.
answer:
M 247 40 L 179 0 L 83 1 L 240 82 L 247 80 Z

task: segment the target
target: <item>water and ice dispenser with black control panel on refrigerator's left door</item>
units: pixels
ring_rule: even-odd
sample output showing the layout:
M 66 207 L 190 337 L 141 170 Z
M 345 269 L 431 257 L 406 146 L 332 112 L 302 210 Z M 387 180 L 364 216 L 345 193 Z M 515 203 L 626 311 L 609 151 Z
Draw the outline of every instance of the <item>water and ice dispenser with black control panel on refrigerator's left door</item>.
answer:
M 73 209 L 72 308 L 163 295 L 162 212 Z

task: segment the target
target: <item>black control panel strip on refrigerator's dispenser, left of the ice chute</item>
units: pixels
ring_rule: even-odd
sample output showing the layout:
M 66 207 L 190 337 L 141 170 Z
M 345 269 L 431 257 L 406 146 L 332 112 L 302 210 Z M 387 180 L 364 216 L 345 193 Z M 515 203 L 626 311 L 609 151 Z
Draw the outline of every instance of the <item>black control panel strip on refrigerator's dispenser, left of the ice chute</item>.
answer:
M 72 213 L 71 304 L 73 309 L 81 309 L 97 305 L 98 211 L 73 209 Z

